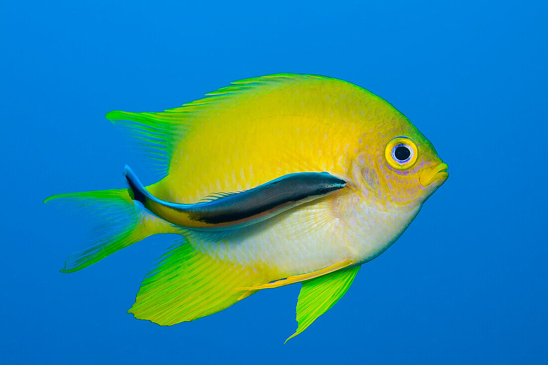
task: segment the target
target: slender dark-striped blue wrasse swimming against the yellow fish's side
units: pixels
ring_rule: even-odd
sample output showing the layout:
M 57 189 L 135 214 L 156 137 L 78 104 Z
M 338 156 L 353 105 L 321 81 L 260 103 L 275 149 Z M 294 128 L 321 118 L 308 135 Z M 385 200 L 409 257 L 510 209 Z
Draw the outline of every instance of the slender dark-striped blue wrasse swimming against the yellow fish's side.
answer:
M 227 230 L 259 223 L 300 204 L 343 189 L 346 181 L 326 172 L 293 173 L 239 193 L 217 193 L 207 202 L 181 204 L 158 199 L 129 166 L 125 178 L 139 201 L 159 218 L 191 229 Z

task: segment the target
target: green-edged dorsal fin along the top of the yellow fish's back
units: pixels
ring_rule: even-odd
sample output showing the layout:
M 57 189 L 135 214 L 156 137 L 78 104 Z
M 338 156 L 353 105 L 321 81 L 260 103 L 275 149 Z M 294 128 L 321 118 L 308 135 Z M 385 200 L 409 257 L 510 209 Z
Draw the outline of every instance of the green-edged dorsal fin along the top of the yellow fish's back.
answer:
M 232 82 L 231 85 L 219 88 L 198 99 L 174 109 L 163 112 L 124 112 L 111 111 L 106 118 L 122 129 L 123 134 L 130 137 L 130 146 L 145 162 L 159 174 L 159 178 L 167 175 L 172 153 L 176 146 L 189 134 L 193 124 L 199 125 L 206 113 L 215 107 L 231 107 L 238 104 L 238 98 L 249 95 L 260 89 L 269 90 L 288 83 L 304 81 L 305 79 L 328 78 L 317 75 L 299 75 L 279 73 Z

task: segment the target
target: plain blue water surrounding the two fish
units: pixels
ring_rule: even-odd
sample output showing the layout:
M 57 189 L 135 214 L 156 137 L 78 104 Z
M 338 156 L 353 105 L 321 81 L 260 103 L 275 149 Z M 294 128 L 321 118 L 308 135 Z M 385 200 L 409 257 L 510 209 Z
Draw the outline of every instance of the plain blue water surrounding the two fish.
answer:
M 0 363 L 548 363 L 546 2 L 2 2 Z M 287 345 L 300 285 L 159 327 L 125 313 L 156 236 L 72 274 L 41 203 L 153 175 L 104 118 L 230 81 L 318 73 L 390 101 L 447 183 Z

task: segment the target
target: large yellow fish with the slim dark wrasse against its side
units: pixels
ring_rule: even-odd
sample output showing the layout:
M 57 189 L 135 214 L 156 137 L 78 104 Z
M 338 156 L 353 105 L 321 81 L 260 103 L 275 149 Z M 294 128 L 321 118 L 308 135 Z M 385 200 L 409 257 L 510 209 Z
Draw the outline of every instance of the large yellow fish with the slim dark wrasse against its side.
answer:
M 300 282 L 294 337 L 346 293 L 359 267 L 389 248 L 448 178 L 447 164 L 401 112 L 330 77 L 244 79 L 175 109 L 106 117 L 149 157 L 158 180 L 145 187 L 127 169 L 130 189 L 45 199 L 95 225 L 88 247 L 61 271 L 156 233 L 181 235 L 129 310 L 162 326 Z

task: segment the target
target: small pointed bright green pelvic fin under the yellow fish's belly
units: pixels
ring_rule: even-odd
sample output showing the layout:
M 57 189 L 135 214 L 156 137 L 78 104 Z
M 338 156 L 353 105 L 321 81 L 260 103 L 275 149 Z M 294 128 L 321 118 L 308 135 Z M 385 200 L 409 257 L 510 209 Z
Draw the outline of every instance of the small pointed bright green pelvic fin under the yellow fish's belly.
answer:
M 327 312 L 352 285 L 360 266 L 335 271 L 324 276 L 302 282 L 301 292 L 297 302 L 297 322 L 299 326 L 292 339 Z

